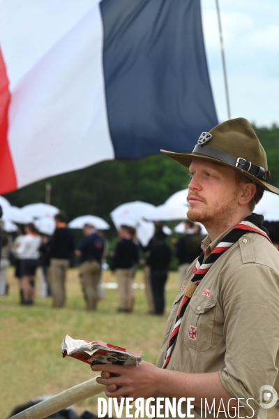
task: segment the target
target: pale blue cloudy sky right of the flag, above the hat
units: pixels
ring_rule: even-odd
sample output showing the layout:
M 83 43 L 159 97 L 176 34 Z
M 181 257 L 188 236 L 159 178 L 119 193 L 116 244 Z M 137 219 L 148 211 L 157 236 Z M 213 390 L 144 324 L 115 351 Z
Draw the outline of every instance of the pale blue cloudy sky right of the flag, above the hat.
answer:
M 218 0 L 231 117 L 279 126 L 279 1 Z M 228 119 L 216 0 L 202 0 L 202 22 L 218 119 Z

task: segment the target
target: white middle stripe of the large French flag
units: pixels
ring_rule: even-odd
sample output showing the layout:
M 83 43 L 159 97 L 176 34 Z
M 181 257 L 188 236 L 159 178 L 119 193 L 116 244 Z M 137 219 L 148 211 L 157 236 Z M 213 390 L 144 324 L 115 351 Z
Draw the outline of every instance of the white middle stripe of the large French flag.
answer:
M 3 0 L 0 16 L 17 186 L 114 159 L 99 0 Z

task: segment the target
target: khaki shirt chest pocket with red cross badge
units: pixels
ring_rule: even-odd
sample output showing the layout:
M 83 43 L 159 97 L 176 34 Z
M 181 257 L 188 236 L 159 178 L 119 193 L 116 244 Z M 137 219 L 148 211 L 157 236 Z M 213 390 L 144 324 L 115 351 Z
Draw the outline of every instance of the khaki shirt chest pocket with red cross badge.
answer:
M 184 340 L 189 348 L 200 352 L 211 348 L 215 313 L 216 301 L 213 298 L 202 295 L 191 298 L 183 325 Z

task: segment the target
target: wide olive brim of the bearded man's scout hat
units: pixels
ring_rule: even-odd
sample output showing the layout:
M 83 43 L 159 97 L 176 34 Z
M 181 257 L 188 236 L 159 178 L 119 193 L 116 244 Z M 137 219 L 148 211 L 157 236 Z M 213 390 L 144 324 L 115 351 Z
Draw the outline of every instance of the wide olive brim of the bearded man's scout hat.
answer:
M 240 168 L 237 168 L 236 166 L 233 166 L 232 164 L 225 163 L 224 161 L 221 161 L 218 159 L 213 159 L 213 157 L 204 156 L 204 154 L 198 154 L 198 153 L 188 154 L 188 153 L 168 152 L 167 150 L 160 150 L 160 152 L 168 156 L 170 159 L 177 161 L 178 163 L 180 163 L 182 166 L 185 166 L 186 168 L 189 168 L 194 157 L 197 157 L 199 159 L 204 159 L 206 161 L 213 161 L 213 163 L 222 164 L 223 166 L 233 168 L 234 170 L 240 172 L 242 175 L 251 179 L 253 182 L 256 182 L 257 184 L 261 185 L 265 191 L 269 191 L 269 192 L 276 193 L 277 195 L 279 195 L 279 189 L 276 188 L 276 186 L 270 185 L 267 182 L 257 179 L 257 177 L 251 175 L 248 172 L 244 172 L 243 170 L 241 170 Z

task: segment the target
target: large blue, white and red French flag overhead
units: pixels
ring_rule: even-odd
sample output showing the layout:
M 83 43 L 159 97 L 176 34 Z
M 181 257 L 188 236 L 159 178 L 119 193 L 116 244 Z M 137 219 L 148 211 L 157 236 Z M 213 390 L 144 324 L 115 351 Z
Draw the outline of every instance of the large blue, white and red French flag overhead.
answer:
M 0 193 L 216 124 L 199 0 L 0 0 Z

